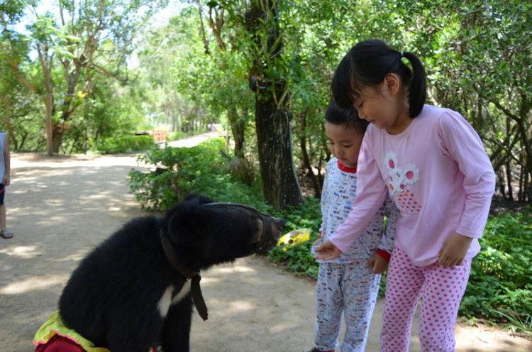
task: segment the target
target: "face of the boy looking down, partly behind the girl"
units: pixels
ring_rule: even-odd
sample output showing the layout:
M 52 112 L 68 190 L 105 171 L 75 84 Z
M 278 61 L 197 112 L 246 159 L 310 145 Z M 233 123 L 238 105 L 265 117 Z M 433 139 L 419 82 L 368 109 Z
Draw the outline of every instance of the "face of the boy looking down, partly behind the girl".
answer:
M 358 152 L 362 144 L 364 134 L 357 128 L 345 128 L 345 126 L 325 123 L 325 132 L 329 142 L 329 149 L 340 163 L 347 167 L 357 167 Z

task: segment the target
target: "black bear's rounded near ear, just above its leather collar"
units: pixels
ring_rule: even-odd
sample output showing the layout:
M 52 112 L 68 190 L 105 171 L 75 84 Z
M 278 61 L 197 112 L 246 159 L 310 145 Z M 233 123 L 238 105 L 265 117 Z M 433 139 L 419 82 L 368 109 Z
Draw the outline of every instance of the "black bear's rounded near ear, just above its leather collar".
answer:
M 167 223 L 167 231 L 174 243 L 188 242 L 203 233 L 206 224 L 204 214 L 198 208 L 182 209 L 170 215 Z

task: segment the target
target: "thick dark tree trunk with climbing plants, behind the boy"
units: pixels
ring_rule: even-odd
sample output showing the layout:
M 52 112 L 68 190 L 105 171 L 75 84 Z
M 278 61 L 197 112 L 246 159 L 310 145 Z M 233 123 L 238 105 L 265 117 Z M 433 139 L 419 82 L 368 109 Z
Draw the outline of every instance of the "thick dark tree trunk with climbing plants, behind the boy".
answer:
M 267 74 L 269 66 L 275 65 L 275 60 L 279 60 L 282 53 L 277 1 L 251 1 L 250 11 L 246 13 L 246 26 L 257 43 L 251 53 L 254 65 L 250 72 L 250 77 L 256 79 L 250 88 L 255 91 L 255 128 L 262 192 L 268 204 L 281 210 L 297 206 L 303 201 L 303 196 L 292 158 L 292 115 L 287 108 L 289 98 L 283 94 L 286 89 L 283 77 L 269 77 Z M 261 40 L 265 29 L 266 43 Z

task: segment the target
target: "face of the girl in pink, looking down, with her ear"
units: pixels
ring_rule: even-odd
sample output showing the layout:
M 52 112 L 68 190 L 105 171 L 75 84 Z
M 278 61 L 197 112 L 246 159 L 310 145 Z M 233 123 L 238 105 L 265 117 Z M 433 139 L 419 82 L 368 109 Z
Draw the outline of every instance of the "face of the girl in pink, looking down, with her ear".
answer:
M 411 123 L 402 84 L 393 73 L 377 87 L 365 87 L 353 104 L 358 116 L 390 134 L 399 134 Z

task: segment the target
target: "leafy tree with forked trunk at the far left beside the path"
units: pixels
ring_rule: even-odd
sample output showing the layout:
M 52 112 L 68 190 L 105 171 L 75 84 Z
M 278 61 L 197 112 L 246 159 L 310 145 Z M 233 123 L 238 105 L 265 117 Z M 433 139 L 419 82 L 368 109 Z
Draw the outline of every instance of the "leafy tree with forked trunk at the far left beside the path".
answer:
M 128 81 L 126 58 L 134 48 L 135 35 L 157 6 L 164 4 L 165 0 L 58 0 L 57 8 L 52 8 L 58 9 L 54 16 L 49 11 L 38 13 L 35 4 L 28 2 L 36 17 L 28 29 L 38 54 L 44 92 L 38 92 L 21 74 L 14 59 L 17 52 L 13 36 L 4 37 L 6 44 L 2 43 L 0 50 L 21 82 L 32 92 L 45 96 L 49 155 L 59 151 L 70 119 L 92 93 L 96 82 L 103 77 Z M 2 18 L 6 17 L 4 11 Z M 3 22 L 4 29 L 11 33 L 9 24 Z M 53 76 L 55 65 L 60 65 L 62 79 Z M 55 90 L 62 94 L 55 94 Z

